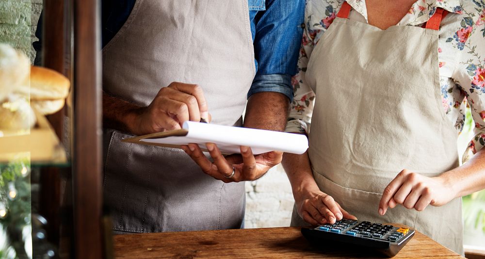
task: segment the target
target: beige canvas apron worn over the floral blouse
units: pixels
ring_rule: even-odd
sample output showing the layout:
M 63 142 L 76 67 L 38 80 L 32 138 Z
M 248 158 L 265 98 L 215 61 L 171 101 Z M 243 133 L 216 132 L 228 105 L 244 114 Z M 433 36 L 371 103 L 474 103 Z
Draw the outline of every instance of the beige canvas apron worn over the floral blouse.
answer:
M 316 94 L 308 154 L 319 188 L 360 220 L 402 223 L 463 254 L 460 198 L 421 212 L 401 205 L 377 212 L 384 188 L 404 168 L 437 176 L 458 166 L 437 50 L 437 30 L 381 30 L 337 17 L 308 63 Z M 304 224 L 293 215 L 292 225 Z

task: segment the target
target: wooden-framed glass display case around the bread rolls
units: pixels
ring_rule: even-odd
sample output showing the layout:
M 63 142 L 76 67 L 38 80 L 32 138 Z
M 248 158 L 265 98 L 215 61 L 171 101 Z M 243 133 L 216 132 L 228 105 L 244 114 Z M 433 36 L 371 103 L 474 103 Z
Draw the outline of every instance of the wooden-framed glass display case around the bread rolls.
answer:
M 70 81 L 60 111 L 32 110 L 34 123 L 15 130 L 0 122 L 0 258 L 111 257 L 101 210 L 100 3 L 4 0 L 0 7 L 0 43 Z

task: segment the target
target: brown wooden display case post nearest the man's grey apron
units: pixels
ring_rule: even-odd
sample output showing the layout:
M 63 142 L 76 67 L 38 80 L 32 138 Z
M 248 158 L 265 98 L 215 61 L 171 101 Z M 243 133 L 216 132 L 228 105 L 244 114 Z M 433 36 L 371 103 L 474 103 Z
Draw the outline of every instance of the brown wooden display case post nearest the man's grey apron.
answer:
M 103 258 L 99 0 L 74 0 L 75 257 Z

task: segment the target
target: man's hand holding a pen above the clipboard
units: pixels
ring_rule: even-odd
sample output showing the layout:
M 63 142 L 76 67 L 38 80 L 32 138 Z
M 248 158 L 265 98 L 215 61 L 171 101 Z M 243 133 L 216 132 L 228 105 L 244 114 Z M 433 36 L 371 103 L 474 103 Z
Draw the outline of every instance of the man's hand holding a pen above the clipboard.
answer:
M 196 84 L 173 82 L 163 87 L 147 107 L 139 108 L 130 123 L 136 135 L 180 129 L 187 121 L 209 121 L 207 101 Z

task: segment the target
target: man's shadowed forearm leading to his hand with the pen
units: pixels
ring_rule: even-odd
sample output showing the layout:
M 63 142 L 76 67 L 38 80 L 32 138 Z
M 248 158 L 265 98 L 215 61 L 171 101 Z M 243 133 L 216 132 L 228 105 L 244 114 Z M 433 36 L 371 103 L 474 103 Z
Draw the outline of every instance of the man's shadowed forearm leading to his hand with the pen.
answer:
M 103 127 L 134 133 L 133 121 L 141 107 L 103 92 Z

